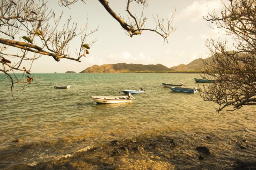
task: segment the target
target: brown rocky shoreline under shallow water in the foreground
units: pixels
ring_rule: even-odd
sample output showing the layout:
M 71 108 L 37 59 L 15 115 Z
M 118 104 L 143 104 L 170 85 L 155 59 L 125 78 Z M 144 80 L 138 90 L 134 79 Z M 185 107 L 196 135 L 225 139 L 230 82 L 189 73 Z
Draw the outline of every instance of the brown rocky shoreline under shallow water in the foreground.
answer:
M 206 140 L 212 141 L 212 136 L 207 136 Z M 12 141 L 14 143 L 24 142 L 22 139 Z M 77 141 L 79 143 L 86 142 L 86 139 Z M 248 141 L 243 139 L 237 141 L 237 146 L 240 143 L 246 143 L 246 149 L 249 147 Z M 88 147 L 86 150 L 81 150 L 58 157 L 58 159 L 41 162 L 35 166 L 19 164 L 10 167 L 10 169 L 180 169 L 175 160 L 195 158 L 197 164 L 190 165 L 188 169 L 223 169 L 217 164 L 214 164 L 214 159 L 218 156 L 216 152 L 211 152 L 206 146 L 197 146 L 193 152 L 188 152 L 180 148 L 184 145 L 181 139 L 173 139 L 170 136 L 158 136 L 156 138 L 132 138 L 124 140 L 112 140 L 108 143 L 98 144 Z M 243 144 L 244 145 L 244 144 Z M 248 147 L 247 147 L 248 146 Z M 174 150 L 185 153 L 185 157 L 177 158 L 172 153 Z M 197 160 L 196 160 L 197 159 Z M 187 160 L 188 161 L 188 160 Z M 0 166 L 1 167 L 1 166 Z M 3 167 L 3 164 L 2 164 Z M 250 161 L 234 160 L 225 169 L 255 169 L 256 159 Z

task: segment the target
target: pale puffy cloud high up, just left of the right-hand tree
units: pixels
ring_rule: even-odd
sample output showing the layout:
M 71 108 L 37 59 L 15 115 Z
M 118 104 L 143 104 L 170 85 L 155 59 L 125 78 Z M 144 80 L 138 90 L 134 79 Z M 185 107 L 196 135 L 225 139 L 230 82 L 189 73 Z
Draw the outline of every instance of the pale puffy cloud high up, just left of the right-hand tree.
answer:
M 220 0 L 196 0 L 191 5 L 182 9 L 177 15 L 176 19 L 188 19 L 190 22 L 197 22 L 203 16 L 207 16 L 208 10 L 218 10 L 221 8 L 222 3 Z M 207 9 L 208 8 L 208 9 Z

